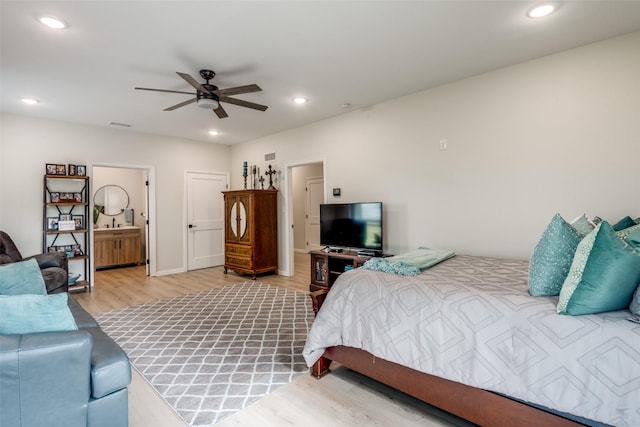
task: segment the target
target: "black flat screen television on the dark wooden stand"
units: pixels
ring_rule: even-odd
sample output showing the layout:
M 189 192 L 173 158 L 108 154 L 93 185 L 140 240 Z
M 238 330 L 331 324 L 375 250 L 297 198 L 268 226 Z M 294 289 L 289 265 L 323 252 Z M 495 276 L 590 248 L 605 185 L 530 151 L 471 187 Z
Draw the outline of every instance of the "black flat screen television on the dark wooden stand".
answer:
M 382 203 L 320 205 L 320 244 L 382 252 Z

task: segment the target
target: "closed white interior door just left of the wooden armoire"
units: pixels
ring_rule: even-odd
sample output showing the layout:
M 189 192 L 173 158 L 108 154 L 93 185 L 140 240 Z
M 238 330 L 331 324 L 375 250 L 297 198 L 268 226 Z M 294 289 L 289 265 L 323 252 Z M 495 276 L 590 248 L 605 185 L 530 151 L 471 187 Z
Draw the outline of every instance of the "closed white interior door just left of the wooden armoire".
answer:
M 187 269 L 224 264 L 224 199 L 227 176 L 187 173 Z

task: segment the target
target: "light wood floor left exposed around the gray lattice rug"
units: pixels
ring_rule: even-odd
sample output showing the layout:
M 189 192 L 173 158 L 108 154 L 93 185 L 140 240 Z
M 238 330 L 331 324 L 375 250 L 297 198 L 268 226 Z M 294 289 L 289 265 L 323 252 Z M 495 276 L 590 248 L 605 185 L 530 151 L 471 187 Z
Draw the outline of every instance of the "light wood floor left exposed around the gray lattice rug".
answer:
M 309 255 L 296 254 L 295 276 L 259 276 L 257 280 L 297 291 L 309 291 Z M 91 293 L 74 294 L 90 313 L 199 292 L 252 280 L 222 267 L 159 277 L 144 267 L 98 271 Z M 184 427 L 185 423 L 137 372 L 129 387 L 130 427 Z M 218 423 L 232 426 L 468 426 L 423 402 L 353 371 L 337 366 L 322 380 L 310 375 L 290 384 Z

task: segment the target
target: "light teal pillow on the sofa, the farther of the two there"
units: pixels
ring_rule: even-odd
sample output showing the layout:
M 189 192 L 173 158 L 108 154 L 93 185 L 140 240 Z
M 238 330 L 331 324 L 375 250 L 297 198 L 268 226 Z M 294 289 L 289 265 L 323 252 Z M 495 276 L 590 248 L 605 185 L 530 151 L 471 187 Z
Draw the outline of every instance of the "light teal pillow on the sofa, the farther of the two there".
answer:
M 0 295 L 22 294 L 47 294 L 40 267 L 33 258 L 0 266 Z

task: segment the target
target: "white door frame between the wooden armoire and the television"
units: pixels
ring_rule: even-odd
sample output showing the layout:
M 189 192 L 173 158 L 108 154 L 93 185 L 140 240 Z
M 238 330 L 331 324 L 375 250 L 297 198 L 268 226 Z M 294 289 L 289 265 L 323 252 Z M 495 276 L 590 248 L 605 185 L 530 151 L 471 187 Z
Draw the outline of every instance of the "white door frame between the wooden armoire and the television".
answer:
M 284 255 L 280 259 L 285 261 L 285 265 L 279 266 L 278 274 L 281 276 L 293 276 L 294 274 L 294 244 L 293 244 L 293 168 L 298 166 L 305 166 L 314 163 L 322 163 L 322 177 L 324 178 L 324 201 L 327 201 L 327 159 L 326 157 L 320 157 L 315 159 L 309 159 L 306 161 L 300 161 L 295 163 L 288 163 L 285 165 L 284 185 L 282 186 L 284 196 L 284 221 L 281 223 L 283 228 L 282 233 L 282 250 L 280 254 Z M 281 187 L 281 188 L 282 188 Z

